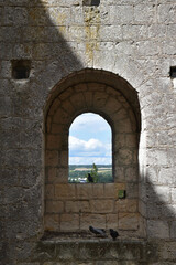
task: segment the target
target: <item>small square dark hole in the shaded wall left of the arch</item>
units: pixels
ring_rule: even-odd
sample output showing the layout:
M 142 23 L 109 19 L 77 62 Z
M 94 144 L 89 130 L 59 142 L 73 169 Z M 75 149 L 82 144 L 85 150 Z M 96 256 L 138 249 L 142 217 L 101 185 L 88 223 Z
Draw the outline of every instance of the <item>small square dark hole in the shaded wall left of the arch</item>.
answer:
M 12 78 L 28 80 L 30 76 L 30 60 L 12 60 Z

